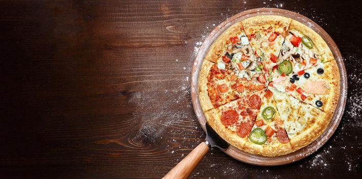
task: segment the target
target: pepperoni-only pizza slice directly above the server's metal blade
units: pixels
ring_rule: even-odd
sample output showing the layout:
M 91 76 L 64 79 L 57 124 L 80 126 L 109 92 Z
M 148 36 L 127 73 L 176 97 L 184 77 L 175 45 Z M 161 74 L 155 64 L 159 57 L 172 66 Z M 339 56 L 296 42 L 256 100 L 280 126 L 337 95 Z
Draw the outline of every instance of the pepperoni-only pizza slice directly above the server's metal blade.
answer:
M 206 111 L 206 119 L 221 138 L 242 149 L 255 123 L 264 93 L 263 89 Z

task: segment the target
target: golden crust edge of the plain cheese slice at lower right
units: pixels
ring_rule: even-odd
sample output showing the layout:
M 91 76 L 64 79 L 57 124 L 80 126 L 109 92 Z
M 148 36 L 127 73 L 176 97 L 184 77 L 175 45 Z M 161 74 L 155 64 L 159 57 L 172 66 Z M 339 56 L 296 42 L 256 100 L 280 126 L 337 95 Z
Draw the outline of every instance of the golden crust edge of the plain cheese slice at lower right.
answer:
M 315 108 L 315 110 L 319 109 Z M 319 138 L 328 126 L 331 114 L 326 114 L 322 110 L 319 110 L 313 117 L 315 118 L 314 124 L 290 140 L 293 151 L 299 150 Z

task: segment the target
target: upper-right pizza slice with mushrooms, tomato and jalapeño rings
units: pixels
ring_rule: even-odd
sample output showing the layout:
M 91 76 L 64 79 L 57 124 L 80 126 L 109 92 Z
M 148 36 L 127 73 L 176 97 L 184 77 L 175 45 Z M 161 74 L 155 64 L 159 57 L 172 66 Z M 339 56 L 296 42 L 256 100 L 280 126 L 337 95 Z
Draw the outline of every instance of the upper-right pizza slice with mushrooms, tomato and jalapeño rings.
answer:
M 289 75 L 334 60 L 323 38 L 299 21 L 292 20 L 279 54 L 279 74 Z M 278 73 L 277 73 L 278 74 Z

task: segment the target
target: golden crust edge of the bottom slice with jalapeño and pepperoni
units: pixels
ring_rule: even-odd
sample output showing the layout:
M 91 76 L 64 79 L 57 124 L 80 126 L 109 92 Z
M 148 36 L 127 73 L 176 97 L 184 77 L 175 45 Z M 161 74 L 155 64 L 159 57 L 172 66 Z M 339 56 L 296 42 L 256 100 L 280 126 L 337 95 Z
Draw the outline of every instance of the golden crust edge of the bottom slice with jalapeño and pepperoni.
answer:
M 263 155 L 263 156 L 279 156 L 279 155 L 285 155 L 293 151 L 289 143 L 286 144 L 279 143 L 278 146 L 271 146 L 271 145 L 258 145 L 250 141 L 247 141 L 245 143 L 242 150 L 244 150 L 245 152 L 257 155 Z

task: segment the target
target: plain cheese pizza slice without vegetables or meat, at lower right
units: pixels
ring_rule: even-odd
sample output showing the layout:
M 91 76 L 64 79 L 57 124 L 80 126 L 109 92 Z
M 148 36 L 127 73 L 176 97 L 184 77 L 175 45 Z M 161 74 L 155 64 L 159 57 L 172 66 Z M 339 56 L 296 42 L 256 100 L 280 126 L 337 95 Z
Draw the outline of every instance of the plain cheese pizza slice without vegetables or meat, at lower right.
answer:
M 293 151 L 296 151 L 321 136 L 333 114 L 297 100 L 285 93 L 269 87 L 273 92 L 284 128 L 290 139 Z

